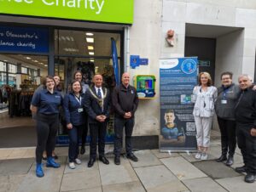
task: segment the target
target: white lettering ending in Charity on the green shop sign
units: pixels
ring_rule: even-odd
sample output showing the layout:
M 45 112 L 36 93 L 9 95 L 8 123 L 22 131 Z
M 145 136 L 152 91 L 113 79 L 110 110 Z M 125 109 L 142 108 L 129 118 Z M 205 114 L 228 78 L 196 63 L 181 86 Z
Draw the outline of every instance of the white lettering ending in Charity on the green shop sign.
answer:
M 95 10 L 96 14 L 101 14 L 105 0 L 5 0 L 12 3 L 27 3 L 41 1 L 47 6 L 67 7 L 67 8 L 85 8 Z

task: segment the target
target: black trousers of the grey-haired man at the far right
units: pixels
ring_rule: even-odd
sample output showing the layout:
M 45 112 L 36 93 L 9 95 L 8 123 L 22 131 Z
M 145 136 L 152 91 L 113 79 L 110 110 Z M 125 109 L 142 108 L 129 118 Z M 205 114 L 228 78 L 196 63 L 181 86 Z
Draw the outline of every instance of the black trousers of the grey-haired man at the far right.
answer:
M 253 125 L 236 125 L 237 144 L 241 150 L 243 162 L 247 167 L 247 173 L 256 174 L 256 137 L 250 133 Z

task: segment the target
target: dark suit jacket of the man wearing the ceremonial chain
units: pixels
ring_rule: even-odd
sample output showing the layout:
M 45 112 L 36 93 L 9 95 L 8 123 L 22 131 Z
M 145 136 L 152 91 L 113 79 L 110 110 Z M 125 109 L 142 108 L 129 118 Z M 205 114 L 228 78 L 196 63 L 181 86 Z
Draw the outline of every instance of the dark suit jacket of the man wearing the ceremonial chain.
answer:
M 109 111 L 110 111 L 110 104 L 111 104 L 110 93 L 107 88 L 102 88 L 102 91 L 103 91 L 103 95 L 106 94 L 106 97 L 103 99 L 103 109 L 99 104 L 95 87 L 87 89 L 85 93 L 84 109 L 88 114 L 89 123 L 99 122 L 99 121 L 96 121 L 96 116 L 104 115 L 104 116 L 107 116 L 107 118 L 109 118 Z M 102 98 L 103 98 L 103 95 L 102 95 Z

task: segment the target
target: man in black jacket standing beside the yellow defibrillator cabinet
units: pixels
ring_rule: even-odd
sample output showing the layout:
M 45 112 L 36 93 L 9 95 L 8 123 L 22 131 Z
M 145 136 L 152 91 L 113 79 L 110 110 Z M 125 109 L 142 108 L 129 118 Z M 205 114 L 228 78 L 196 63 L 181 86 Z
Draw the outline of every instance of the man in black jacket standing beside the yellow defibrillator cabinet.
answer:
M 114 163 L 120 164 L 120 152 L 122 148 L 123 128 L 125 127 L 126 156 L 132 161 L 138 161 L 132 153 L 131 134 L 134 126 L 134 115 L 137 110 L 138 97 L 136 88 L 130 84 L 130 75 L 125 72 L 122 75 L 122 83 L 114 88 L 112 104 L 114 109 Z

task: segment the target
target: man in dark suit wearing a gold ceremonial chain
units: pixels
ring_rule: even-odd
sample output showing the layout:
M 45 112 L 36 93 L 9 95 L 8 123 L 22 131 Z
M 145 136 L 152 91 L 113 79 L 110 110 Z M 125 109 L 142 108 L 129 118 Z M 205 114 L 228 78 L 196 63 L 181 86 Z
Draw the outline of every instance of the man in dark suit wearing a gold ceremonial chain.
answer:
M 107 120 L 110 110 L 110 93 L 107 88 L 102 88 L 102 75 L 93 77 L 94 87 L 85 93 L 84 108 L 88 114 L 90 127 L 90 161 L 92 167 L 96 161 L 96 144 L 98 140 L 99 160 L 109 164 L 105 157 L 105 136 L 107 133 Z

